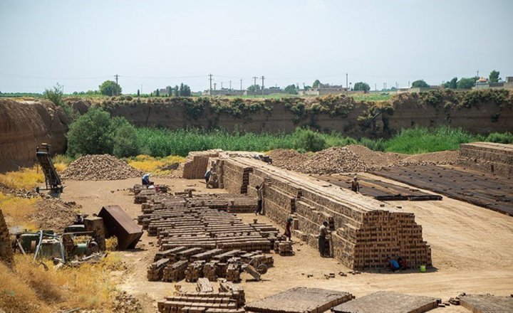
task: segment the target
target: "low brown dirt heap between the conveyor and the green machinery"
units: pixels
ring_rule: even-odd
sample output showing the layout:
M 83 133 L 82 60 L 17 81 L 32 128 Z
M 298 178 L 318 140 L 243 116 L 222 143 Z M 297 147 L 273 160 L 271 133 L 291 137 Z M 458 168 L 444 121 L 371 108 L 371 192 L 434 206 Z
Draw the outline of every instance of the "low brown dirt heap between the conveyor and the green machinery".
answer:
M 74 202 L 63 202 L 58 198 L 42 198 L 36 203 L 37 211 L 29 218 L 39 229 L 55 230 L 60 233 L 75 221 L 81 206 Z

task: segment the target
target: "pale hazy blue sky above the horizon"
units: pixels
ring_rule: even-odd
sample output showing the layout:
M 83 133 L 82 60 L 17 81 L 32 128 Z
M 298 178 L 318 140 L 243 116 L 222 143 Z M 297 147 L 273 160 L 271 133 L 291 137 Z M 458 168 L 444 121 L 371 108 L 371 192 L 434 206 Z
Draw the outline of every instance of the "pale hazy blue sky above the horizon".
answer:
M 511 0 L 0 0 L 0 91 L 504 79 L 512 20 Z

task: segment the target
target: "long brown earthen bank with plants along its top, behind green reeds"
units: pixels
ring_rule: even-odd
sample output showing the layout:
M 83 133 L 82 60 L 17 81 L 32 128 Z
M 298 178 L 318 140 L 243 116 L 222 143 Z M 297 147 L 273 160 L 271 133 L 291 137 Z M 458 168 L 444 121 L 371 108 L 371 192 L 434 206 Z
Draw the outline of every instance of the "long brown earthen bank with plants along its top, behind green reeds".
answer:
M 309 126 L 351 137 L 388 137 L 403 128 L 448 125 L 471 132 L 513 131 L 513 92 L 436 90 L 357 102 L 346 95 L 284 99 L 115 98 L 100 105 L 137 127 L 201 127 L 248 132 L 291 132 Z M 130 98 L 131 99 L 131 98 Z

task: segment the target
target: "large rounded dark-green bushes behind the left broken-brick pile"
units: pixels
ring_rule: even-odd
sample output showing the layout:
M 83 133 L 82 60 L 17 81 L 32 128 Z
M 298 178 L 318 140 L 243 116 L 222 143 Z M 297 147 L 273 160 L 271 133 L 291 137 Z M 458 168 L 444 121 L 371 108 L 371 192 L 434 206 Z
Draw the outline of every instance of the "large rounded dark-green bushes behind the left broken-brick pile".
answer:
M 99 108 L 88 110 L 70 125 L 68 154 L 114 154 L 129 157 L 138 152 L 138 140 L 133 127 L 124 117 L 112 119 Z

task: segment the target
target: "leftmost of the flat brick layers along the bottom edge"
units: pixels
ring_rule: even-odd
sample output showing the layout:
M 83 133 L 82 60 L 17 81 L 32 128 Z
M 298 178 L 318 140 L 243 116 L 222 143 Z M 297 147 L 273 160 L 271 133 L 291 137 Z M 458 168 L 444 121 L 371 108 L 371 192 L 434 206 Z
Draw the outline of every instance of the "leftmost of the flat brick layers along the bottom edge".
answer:
M 351 299 L 353 295 L 348 292 L 296 287 L 246 304 L 245 309 L 261 313 L 326 312 Z

